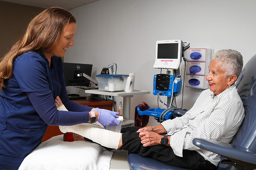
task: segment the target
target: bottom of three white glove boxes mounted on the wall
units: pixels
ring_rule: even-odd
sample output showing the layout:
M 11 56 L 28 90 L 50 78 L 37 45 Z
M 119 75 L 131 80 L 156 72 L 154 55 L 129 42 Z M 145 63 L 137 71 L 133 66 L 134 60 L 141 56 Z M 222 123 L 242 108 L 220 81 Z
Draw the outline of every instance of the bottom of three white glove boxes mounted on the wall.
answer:
M 207 89 L 209 88 L 208 81 L 205 80 L 206 76 L 199 76 L 199 75 L 185 75 L 185 87 L 193 87 L 193 88 L 201 88 L 201 89 Z M 194 79 L 199 84 L 198 85 L 192 85 L 190 84 L 190 80 Z

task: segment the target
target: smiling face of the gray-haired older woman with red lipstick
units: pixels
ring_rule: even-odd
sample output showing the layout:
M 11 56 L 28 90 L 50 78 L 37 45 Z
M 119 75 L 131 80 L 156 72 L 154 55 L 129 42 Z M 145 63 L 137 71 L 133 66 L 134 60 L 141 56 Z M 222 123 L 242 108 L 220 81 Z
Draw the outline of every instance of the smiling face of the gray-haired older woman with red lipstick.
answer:
M 215 95 L 220 94 L 228 88 L 230 84 L 230 76 L 225 77 L 225 72 L 220 68 L 220 64 L 217 60 L 212 60 L 209 65 L 209 74 L 206 76 L 206 80 L 209 82 L 210 90 L 214 92 Z

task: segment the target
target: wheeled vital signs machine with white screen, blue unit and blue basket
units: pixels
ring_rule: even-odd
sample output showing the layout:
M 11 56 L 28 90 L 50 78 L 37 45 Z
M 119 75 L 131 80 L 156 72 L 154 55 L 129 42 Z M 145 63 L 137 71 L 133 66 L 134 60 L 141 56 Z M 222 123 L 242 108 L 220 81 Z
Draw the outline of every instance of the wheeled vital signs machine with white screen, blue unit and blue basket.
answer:
M 189 48 L 189 42 L 182 42 L 181 40 L 160 40 L 156 41 L 156 54 L 154 68 L 173 69 L 175 73 L 179 72 L 179 67 L 183 55 L 183 51 Z M 170 73 L 170 72 L 168 72 Z M 180 75 L 174 76 L 170 74 L 156 74 L 153 78 L 153 94 L 167 97 L 167 104 L 165 101 L 163 106 L 166 108 L 150 108 L 141 111 L 137 107 L 139 115 L 154 116 L 160 123 L 164 120 L 171 119 L 173 112 L 178 109 L 172 106 L 173 97 L 180 94 L 182 87 L 182 80 Z

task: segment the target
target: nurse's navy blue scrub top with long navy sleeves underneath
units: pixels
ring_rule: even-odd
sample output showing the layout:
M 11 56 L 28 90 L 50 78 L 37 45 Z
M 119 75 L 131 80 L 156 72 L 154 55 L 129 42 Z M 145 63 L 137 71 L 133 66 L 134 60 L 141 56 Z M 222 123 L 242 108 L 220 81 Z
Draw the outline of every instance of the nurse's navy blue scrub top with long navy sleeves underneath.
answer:
M 87 123 L 92 107 L 68 100 L 61 57 L 52 65 L 40 52 L 27 52 L 14 61 L 13 75 L 0 93 L 0 154 L 25 158 L 41 143 L 48 125 Z M 69 111 L 58 111 L 59 96 Z

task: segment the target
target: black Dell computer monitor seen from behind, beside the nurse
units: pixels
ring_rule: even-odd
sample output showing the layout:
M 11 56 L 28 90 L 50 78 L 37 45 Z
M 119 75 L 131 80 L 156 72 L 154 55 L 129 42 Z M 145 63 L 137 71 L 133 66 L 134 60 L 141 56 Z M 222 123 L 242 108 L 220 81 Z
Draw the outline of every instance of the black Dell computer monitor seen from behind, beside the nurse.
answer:
M 86 73 L 91 76 L 92 64 L 63 63 L 66 86 L 91 87 L 90 80 L 77 74 Z

